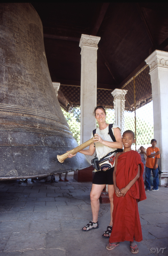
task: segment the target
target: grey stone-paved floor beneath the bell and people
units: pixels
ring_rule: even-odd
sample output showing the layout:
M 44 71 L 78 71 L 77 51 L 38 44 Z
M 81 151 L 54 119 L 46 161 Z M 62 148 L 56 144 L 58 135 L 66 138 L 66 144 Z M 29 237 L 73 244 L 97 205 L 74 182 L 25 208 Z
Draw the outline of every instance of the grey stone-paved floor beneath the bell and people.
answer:
M 92 184 L 77 182 L 72 175 L 68 179 L 0 182 L 0 256 L 132 255 L 127 241 L 113 251 L 105 249 L 108 239 L 102 234 L 109 224 L 109 204 L 100 205 L 99 229 L 81 230 L 92 219 Z M 168 188 L 147 192 L 139 213 L 143 241 L 138 255 L 168 255 Z

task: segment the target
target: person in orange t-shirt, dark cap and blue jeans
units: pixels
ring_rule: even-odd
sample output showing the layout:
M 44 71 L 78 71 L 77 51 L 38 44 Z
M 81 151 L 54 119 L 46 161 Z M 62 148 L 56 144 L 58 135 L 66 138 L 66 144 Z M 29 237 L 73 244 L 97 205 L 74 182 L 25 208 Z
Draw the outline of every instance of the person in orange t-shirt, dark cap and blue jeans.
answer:
M 158 185 L 159 185 L 159 171 L 157 168 L 157 162 L 158 159 L 160 158 L 160 149 L 156 147 L 157 141 L 155 139 L 151 140 L 152 147 L 147 148 L 147 160 L 146 160 L 146 165 L 145 165 L 145 191 L 157 191 Z M 153 188 L 151 189 L 151 170 L 153 173 Z

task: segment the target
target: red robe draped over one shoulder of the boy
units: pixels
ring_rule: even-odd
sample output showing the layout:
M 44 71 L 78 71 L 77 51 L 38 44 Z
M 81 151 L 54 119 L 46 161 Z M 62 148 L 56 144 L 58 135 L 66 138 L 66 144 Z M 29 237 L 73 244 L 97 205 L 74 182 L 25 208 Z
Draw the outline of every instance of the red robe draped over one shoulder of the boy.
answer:
M 137 151 L 131 150 L 118 157 L 116 185 L 119 189 L 125 188 L 137 175 L 138 165 L 140 165 L 140 177 L 126 195 L 117 197 L 114 193 L 113 228 L 109 238 L 110 243 L 143 240 L 137 201 L 145 200 L 147 197 L 143 181 L 144 165 Z

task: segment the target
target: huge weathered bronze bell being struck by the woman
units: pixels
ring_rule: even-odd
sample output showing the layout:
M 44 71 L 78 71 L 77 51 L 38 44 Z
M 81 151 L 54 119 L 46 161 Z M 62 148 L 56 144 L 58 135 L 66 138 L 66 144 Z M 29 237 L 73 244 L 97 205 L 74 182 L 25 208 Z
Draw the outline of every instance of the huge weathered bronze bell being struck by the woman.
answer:
M 1 3 L 0 9 L 0 180 L 90 166 L 80 153 L 57 160 L 78 144 L 52 85 L 39 15 L 29 3 Z

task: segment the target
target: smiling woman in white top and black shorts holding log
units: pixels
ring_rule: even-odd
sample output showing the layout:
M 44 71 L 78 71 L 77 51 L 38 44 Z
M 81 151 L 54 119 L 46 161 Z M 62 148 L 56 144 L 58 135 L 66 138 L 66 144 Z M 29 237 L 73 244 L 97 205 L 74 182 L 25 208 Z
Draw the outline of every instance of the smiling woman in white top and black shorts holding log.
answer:
M 113 142 L 110 135 L 108 134 L 109 124 L 105 122 L 106 112 L 104 107 L 97 106 L 93 113 L 95 114 L 95 118 L 99 124 L 99 127 L 96 128 L 95 137 L 93 139 L 95 143 L 91 144 L 89 146 L 89 149 L 84 149 L 79 152 L 84 155 L 93 155 L 96 149 L 98 160 L 100 160 L 102 157 L 106 156 L 108 153 L 117 150 L 117 148 L 123 148 L 123 143 L 121 141 L 120 128 L 116 124 L 113 124 L 113 128 L 112 128 L 116 142 Z M 92 137 L 93 137 L 93 132 L 92 132 L 91 138 Z M 72 154 L 68 155 L 69 158 L 73 156 L 75 155 L 72 155 Z M 112 222 L 113 193 L 114 193 L 113 169 L 114 167 L 106 171 L 100 170 L 95 173 L 95 176 L 93 178 L 92 189 L 90 193 L 93 219 L 92 221 L 89 222 L 89 224 L 84 226 L 82 229 L 83 231 L 89 231 L 91 229 L 97 229 L 99 227 L 99 224 L 98 224 L 98 214 L 99 214 L 99 208 L 100 208 L 99 197 L 101 195 L 101 192 L 105 188 L 106 184 L 108 184 L 108 195 L 109 195 L 109 200 L 111 204 L 111 221 L 109 223 L 109 226 L 107 227 L 107 230 L 103 234 L 103 237 L 105 238 L 110 237 L 110 234 L 112 231 L 112 225 L 113 225 L 113 222 Z

